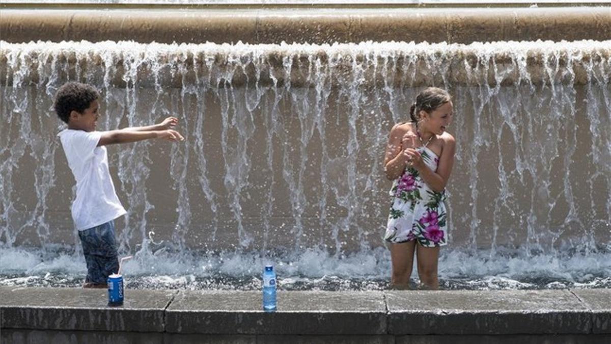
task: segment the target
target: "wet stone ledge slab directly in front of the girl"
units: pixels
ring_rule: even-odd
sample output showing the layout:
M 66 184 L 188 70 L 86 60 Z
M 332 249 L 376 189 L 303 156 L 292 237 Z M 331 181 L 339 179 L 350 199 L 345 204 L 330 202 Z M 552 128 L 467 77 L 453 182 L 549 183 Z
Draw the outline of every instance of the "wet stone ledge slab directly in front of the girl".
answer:
M 588 334 L 568 290 L 387 291 L 389 334 Z

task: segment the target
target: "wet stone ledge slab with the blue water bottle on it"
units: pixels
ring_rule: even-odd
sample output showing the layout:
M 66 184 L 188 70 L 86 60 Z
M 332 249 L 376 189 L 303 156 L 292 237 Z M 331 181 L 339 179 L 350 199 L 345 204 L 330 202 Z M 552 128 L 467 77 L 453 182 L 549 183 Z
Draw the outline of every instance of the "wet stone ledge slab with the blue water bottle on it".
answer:
M 386 334 L 379 291 L 279 291 L 278 310 L 262 310 L 259 291 L 181 291 L 166 311 L 169 333 Z

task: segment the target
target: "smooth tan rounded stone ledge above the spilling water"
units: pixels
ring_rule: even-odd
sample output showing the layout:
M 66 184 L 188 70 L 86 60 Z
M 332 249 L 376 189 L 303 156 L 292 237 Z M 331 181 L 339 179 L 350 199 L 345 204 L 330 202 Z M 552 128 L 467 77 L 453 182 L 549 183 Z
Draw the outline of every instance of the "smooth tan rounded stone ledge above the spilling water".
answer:
M 2 40 L 334 43 L 607 40 L 611 7 L 2 9 Z

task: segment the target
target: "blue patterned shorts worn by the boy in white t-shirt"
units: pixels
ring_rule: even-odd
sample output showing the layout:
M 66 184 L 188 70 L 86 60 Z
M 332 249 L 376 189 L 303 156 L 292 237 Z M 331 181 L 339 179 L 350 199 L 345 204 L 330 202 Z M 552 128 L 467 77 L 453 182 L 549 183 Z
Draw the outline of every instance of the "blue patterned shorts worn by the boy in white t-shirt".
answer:
M 114 221 L 78 232 L 87 263 L 86 283 L 105 284 L 108 275 L 119 271 Z

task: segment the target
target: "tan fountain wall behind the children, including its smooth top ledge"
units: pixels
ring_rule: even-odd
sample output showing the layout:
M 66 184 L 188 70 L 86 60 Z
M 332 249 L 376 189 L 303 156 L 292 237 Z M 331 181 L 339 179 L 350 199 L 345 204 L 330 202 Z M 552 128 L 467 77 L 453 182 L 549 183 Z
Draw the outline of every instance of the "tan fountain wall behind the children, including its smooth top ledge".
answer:
M 609 41 L 255 43 L 608 39 L 607 14 L 609 7 L 4 8 L 0 238 L 74 241 L 73 179 L 50 108 L 61 83 L 81 80 L 103 93 L 103 129 L 177 114 L 188 138 L 181 146 L 109 150 L 130 210 L 118 226 L 122 245 L 152 230 L 157 239 L 208 249 L 380 245 L 387 133 L 433 84 L 455 97 L 453 244 L 604 245 L 611 239 Z M 253 45 L 7 43 L 31 39 Z

